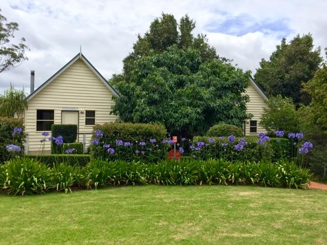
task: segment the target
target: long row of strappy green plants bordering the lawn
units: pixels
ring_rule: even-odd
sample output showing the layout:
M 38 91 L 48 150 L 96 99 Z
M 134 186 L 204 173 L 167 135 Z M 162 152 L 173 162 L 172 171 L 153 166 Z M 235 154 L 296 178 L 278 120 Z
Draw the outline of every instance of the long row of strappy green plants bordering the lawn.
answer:
M 55 164 L 53 168 L 32 159 L 13 159 L 0 166 L 0 188 L 8 194 L 72 191 L 115 185 L 249 184 L 266 187 L 307 188 L 310 171 L 295 162 L 243 162 L 186 159 L 179 162 L 102 161 L 85 167 Z

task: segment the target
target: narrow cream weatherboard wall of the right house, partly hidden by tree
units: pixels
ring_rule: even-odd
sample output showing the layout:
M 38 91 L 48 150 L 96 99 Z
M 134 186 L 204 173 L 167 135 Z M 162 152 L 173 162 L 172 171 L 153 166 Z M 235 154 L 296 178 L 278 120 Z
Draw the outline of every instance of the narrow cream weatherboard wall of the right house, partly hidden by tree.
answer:
M 246 93 L 250 97 L 250 101 L 247 103 L 247 112 L 253 115 L 251 120 L 257 121 L 256 133 L 250 133 L 250 120 L 245 121 L 245 135 L 246 136 L 256 136 L 260 132 L 266 132 L 264 128 L 259 125 L 261 114 L 263 113 L 263 108 L 266 106 L 266 102 L 261 94 L 254 88 L 252 83 L 247 88 Z

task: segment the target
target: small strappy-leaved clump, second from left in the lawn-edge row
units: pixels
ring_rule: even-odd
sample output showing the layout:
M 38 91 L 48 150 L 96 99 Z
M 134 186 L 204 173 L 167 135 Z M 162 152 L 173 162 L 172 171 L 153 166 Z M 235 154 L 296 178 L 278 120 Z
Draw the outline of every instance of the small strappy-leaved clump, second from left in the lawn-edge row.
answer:
M 52 168 L 52 188 L 57 191 L 64 190 L 65 193 L 72 192 L 71 187 L 75 183 L 76 168 L 67 163 L 54 163 Z

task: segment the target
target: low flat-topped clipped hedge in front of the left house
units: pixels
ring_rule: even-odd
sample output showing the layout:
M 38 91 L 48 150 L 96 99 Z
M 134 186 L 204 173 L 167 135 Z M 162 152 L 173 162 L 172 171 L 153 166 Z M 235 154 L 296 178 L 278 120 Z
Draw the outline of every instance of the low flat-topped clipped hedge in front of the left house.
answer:
M 54 163 L 66 163 L 68 165 L 77 165 L 77 166 L 85 166 L 89 163 L 91 156 L 84 155 L 68 155 L 68 154 L 56 154 L 56 155 L 26 155 L 26 158 L 35 159 L 48 165 L 50 167 L 53 166 Z

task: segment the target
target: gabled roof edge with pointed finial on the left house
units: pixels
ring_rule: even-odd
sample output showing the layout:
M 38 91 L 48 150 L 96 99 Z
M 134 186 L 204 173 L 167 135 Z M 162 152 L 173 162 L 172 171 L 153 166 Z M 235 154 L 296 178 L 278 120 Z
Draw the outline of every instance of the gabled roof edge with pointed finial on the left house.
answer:
M 119 96 L 119 93 L 107 82 L 107 80 L 100 74 L 100 72 L 86 59 L 86 57 L 82 53 L 78 53 L 72 60 L 70 60 L 67 64 L 65 64 L 60 70 L 58 70 L 51 78 L 46 80 L 41 86 L 35 89 L 28 97 L 27 100 L 31 100 L 39 91 L 41 91 L 46 85 L 55 80 L 62 72 L 64 72 L 69 66 L 71 66 L 75 61 L 81 59 L 85 62 L 85 64 L 97 75 L 97 77 L 107 86 L 110 91 Z

